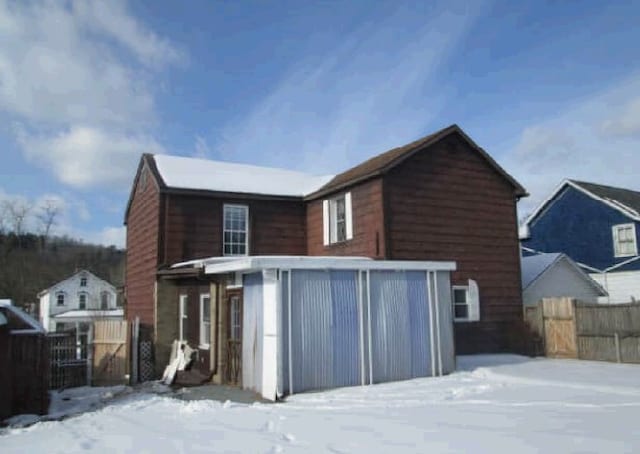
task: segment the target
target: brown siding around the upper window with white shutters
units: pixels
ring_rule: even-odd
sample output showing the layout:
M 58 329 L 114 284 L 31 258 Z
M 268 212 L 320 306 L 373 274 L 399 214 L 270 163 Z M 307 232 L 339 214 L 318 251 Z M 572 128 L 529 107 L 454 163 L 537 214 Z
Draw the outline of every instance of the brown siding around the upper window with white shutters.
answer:
M 353 239 L 325 246 L 322 221 L 324 199 L 351 192 Z M 354 255 L 384 258 L 382 179 L 377 178 L 307 204 L 307 251 L 309 255 Z

